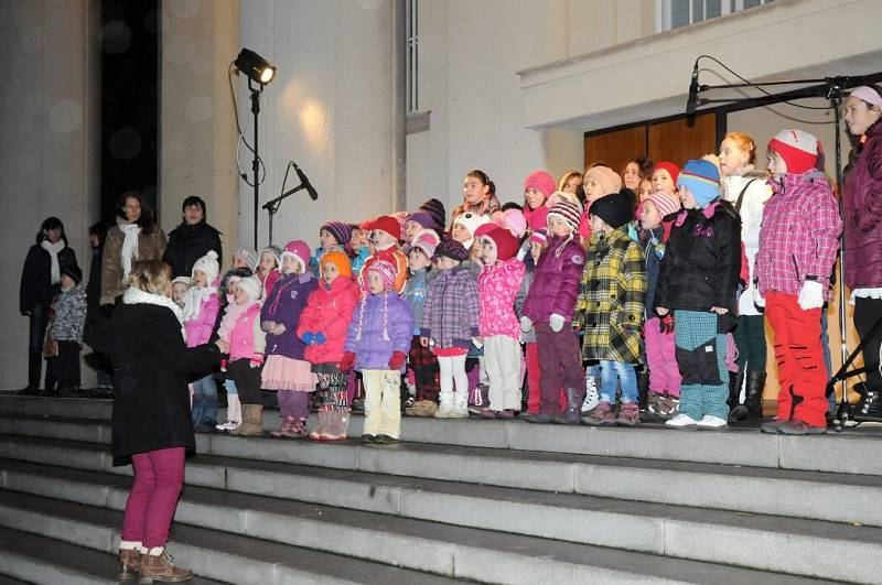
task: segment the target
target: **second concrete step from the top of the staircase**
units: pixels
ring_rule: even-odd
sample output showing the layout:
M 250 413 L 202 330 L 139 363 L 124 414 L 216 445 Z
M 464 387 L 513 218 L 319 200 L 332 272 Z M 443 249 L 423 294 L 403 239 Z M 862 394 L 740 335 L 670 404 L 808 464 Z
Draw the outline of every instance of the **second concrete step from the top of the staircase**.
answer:
M 52 426 L 51 421 L 40 424 L 55 431 L 64 426 L 75 429 L 78 424 L 82 429 L 75 432 L 49 433 L 72 437 L 82 437 L 94 426 L 89 423 Z M 359 476 L 316 477 L 322 475 L 322 467 L 406 476 L 411 484 L 416 479 L 426 480 L 424 485 L 412 488 L 416 490 L 431 489 L 432 481 L 440 479 L 882 527 L 882 507 L 876 505 L 882 501 L 882 477 L 879 476 L 420 443 L 378 447 L 356 442 L 330 445 L 225 435 L 200 435 L 198 442 L 203 454 L 191 459 L 187 466 L 191 485 L 289 494 L 289 476 L 295 474 L 298 485 L 314 486 L 309 492 L 320 499 L 330 498 L 331 501 L 319 502 L 332 506 L 373 509 L 378 498 L 349 495 L 364 495 L 365 484 L 376 489 L 383 481 Z M 217 455 L 205 455 L 212 453 Z M 107 446 L 98 443 L 9 435 L 0 443 L 0 456 L 130 474 L 128 466 L 112 467 Z M 428 461 L 431 465 L 427 465 Z M 297 467 L 276 469 L 273 463 Z M 345 489 L 334 485 L 341 479 L 348 480 Z M 399 478 L 390 478 L 385 484 L 384 491 L 390 501 L 400 501 L 410 494 Z M 342 489 L 336 489 L 338 487 Z M 341 497 L 343 495 L 345 497 Z

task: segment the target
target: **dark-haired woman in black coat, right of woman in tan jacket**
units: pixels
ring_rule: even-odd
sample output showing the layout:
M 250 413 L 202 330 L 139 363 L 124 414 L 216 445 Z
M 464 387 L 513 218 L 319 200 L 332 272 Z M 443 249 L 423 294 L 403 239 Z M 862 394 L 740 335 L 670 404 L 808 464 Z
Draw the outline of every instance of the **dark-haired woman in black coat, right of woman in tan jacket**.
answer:
M 217 263 L 224 266 L 220 232 L 206 223 L 205 202 L 191 195 L 181 208 L 183 221 L 169 234 L 169 247 L 162 256 L 162 261 L 172 267 L 172 278 L 191 277 L 193 264 L 208 250 L 217 252 Z

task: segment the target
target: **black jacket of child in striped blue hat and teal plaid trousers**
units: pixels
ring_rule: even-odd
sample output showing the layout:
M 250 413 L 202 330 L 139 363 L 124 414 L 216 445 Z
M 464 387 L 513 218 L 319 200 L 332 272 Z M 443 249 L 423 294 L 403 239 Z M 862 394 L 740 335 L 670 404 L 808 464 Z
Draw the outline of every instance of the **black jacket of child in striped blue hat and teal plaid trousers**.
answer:
M 682 213 L 682 212 L 681 212 Z M 679 215 L 665 248 L 654 306 L 669 310 L 710 311 L 712 306 L 738 314 L 736 286 L 741 273 L 741 220 L 728 203 L 711 217 L 702 209 Z

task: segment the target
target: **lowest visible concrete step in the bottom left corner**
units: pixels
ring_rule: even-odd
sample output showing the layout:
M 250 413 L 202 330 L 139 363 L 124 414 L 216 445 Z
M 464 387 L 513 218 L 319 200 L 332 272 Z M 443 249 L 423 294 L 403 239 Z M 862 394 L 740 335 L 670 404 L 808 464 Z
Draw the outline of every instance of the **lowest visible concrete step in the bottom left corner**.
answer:
M 36 534 L 0 528 L 0 585 L 117 583 L 117 556 Z M 195 577 L 192 585 L 222 585 Z

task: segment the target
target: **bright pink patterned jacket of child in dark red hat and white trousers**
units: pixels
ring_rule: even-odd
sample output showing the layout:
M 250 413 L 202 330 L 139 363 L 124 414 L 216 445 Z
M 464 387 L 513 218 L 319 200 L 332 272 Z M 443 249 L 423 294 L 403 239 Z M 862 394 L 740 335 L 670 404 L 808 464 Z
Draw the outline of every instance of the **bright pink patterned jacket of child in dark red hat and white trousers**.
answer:
M 515 296 L 524 281 L 527 268 L 517 258 L 485 266 L 477 277 L 477 295 L 481 300 L 478 328 L 481 335 L 520 337 L 520 324 L 515 314 Z

